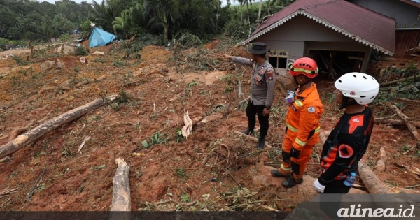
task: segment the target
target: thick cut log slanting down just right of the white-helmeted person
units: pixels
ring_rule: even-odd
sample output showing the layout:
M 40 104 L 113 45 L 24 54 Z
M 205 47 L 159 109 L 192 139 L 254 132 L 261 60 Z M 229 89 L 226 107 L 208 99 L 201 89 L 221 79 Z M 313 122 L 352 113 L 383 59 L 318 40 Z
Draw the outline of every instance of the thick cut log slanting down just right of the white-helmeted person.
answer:
M 367 166 L 362 160 L 358 163 L 358 173 L 360 175 L 360 179 L 362 179 L 363 184 L 365 185 L 367 191 L 371 194 L 389 194 L 391 193 L 388 188 L 381 182 L 381 179 L 377 177 L 370 170 L 369 166 Z

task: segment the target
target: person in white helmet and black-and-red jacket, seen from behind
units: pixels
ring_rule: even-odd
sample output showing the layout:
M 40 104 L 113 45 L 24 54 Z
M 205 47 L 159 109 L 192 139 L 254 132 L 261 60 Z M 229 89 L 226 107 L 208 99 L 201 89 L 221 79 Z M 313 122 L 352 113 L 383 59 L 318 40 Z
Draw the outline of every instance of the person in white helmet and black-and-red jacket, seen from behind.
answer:
M 339 109 L 344 109 L 344 114 L 323 145 L 320 161 L 322 174 L 313 186 L 320 193 L 341 194 L 337 195 L 339 201 L 342 194 L 351 189 L 351 186 L 344 184 L 346 177 L 356 173 L 358 162 L 369 145 L 374 115 L 367 104 L 377 96 L 379 83 L 366 73 L 346 73 L 335 81 L 335 88 L 335 101 Z M 339 219 L 338 209 L 339 203 L 333 203 L 324 212 L 332 215 L 330 219 Z

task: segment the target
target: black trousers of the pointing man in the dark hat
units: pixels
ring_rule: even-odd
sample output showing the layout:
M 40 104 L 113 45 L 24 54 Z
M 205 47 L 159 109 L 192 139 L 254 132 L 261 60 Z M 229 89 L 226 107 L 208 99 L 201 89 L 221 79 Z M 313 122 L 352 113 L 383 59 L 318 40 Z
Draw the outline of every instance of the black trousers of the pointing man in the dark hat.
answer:
M 255 128 L 255 115 L 258 116 L 258 122 L 260 123 L 260 137 L 265 138 L 268 132 L 268 119 L 269 115 L 264 116 L 265 105 L 253 105 L 251 101 L 248 101 L 246 106 L 246 117 L 248 117 L 248 129 L 253 130 Z

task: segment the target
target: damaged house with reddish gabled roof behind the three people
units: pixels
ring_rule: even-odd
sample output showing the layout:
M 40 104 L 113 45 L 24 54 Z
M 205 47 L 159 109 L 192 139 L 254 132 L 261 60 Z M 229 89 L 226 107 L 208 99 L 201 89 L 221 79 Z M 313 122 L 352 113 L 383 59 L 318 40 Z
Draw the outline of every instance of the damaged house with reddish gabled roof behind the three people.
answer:
M 409 0 L 297 0 L 262 21 L 238 45 L 266 43 L 269 62 L 286 78 L 281 79 L 283 82 L 290 82 L 287 64 L 299 57 L 315 59 L 321 73 L 329 78 L 350 71 L 365 72 L 372 54 L 395 54 L 395 46 L 399 47 L 395 39 L 407 36 L 395 34 L 400 22 L 407 23 L 406 17 L 420 22 L 413 18 L 420 15 L 420 4 L 405 1 Z M 414 34 L 405 37 L 410 38 L 405 47 L 418 45 L 416 26 L 408 31 Z

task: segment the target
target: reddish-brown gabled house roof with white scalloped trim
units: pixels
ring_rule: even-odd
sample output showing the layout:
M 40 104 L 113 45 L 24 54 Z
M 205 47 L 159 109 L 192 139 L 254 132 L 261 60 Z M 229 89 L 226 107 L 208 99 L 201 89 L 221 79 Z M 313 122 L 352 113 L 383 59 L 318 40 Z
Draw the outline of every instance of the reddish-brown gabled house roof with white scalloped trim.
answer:
M 385 54 L 395 52 L 395 20 L 344 0 L 297 0 L 262 22 L 238 45 L 251 43 L 297 15 L 304 15 Z

